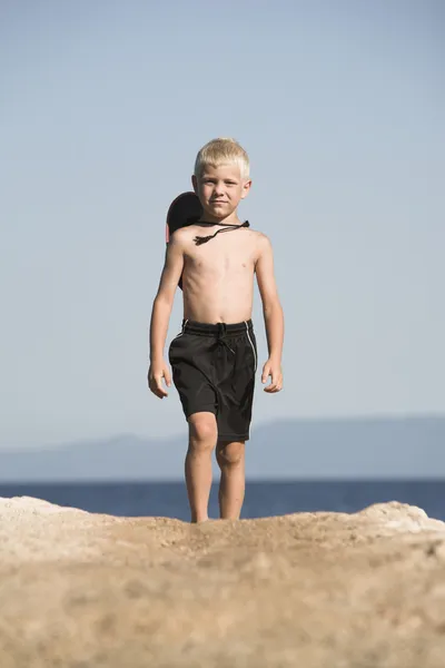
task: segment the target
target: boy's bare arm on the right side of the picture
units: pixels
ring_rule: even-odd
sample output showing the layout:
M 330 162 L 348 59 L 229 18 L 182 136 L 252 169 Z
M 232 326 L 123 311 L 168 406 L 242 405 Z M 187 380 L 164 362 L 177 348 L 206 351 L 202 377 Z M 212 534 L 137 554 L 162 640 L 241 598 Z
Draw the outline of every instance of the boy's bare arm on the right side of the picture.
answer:
M 281 354 L 284 342 L 284 315 L 274 275 L 274 253 L 270 240 L 261 236 L 256 262 L 256 275 L 263 302 L 269 358 L 263 369 L 263 383 L 271 376 L 266 392 L 279 392 L 283 387 Z

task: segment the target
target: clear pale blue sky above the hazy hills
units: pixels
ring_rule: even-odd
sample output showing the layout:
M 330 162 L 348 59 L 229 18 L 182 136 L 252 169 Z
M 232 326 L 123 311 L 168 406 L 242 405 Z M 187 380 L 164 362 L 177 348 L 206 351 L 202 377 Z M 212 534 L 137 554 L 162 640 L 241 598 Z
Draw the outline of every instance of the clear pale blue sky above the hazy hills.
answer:
M 255 422 L 444 412 L 444 35 L 441 0 L 3 0 L 0 448 L 184 430 L 147 330 L 216 136 L 250 154 L 286 315 Z M 258 295 L 255 324 L 264 362 Z

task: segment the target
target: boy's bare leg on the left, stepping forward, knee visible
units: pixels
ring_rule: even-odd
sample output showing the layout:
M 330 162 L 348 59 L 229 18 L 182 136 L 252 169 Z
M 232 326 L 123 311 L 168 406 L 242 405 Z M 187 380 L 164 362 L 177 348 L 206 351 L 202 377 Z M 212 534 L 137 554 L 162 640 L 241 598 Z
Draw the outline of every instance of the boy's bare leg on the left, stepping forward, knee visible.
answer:
M 188 419 L 189 442 L 186 456 L 186 485 L 192 522 L 208 520 L 211 488 L 211 453 L 218 439 L 214 413 L 194 413 Z

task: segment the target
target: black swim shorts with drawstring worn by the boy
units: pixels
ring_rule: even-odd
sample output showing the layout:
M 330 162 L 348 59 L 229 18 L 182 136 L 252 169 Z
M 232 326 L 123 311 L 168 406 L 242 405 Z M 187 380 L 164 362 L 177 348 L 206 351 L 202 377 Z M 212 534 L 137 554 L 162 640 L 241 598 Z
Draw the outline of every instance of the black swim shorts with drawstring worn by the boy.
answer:
M 214 413 L 218 440 L 247 441 L 257 370 L 251 321 L 217 325 L 184 321 L 168 356 L 186 418 Z

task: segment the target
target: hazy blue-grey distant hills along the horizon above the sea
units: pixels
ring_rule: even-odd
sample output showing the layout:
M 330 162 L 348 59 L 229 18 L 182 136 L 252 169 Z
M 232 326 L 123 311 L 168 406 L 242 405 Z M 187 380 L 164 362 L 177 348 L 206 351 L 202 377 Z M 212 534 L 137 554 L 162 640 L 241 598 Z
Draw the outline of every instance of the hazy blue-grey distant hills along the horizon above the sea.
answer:
M 120 435 L 0 451 L 0 482 L 182 479 L 184 438 Z M 217 468 L 215 466 L 215 471 Z M 444 478 L 445 416 L 280 420 L 257 425 L 247 477 Z

